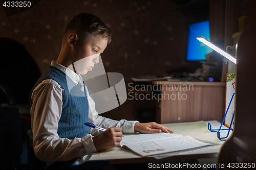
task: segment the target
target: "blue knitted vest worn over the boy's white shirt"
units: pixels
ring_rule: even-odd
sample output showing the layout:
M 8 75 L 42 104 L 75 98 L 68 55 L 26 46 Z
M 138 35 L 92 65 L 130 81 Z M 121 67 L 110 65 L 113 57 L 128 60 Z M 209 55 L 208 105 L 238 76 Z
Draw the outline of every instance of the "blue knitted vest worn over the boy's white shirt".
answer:
M 57 133 L 59 137 L 74 139 L 89 134 L 90 128 L 84 125 L 84 123 L 89 122 L 89 104 L 85 88 L 83 92 L 66 76 L 65 72 L 54 66 L 48 68 L 45 74 L 36 82 L 34 88 L 46 79 L 55 80 L 65 90 L 65 95 L 62 98 L 61 116 L 58 122 Z

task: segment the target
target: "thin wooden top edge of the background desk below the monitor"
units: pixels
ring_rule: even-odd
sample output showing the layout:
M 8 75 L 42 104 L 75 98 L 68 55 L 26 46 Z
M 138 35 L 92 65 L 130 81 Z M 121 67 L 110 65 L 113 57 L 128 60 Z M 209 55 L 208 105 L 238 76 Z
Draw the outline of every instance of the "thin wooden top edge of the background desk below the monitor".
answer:
M 226 86 L 226 82 L 186 82 L 186 81 L 152 81 L 157 85 L 199 85 L 199 86 Z

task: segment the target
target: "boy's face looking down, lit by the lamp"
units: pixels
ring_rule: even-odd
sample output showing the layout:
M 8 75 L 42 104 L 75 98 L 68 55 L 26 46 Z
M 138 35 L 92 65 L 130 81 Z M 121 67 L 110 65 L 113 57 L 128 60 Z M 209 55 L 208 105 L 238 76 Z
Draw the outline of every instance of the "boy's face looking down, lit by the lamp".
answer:
M 87 74 L 99 62 L 99 55 L 108 45 L 108 40 L 102 39 L 102 36 L 90 36 L 83 41 L 77 41 L 75 44 L 74 67 L 78 75 Z

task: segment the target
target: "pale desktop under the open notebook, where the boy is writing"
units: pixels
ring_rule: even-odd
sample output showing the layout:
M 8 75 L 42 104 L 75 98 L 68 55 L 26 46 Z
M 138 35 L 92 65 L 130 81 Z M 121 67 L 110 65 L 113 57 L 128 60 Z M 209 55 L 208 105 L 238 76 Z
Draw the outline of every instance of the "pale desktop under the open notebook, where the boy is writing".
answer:
M 210 122 L 213 126 L 219 127 L 220 123 L 216 120 Z M 207 121 L 191 122 L 191 123 L 176 123 L 176 124 L 163 124 L 169 129 L 173 129 L 176 134 L 189 135 L 195 139 L 207 142 L 214 142 L 220 145 L 211 148 L 205 148 L 190 152 L 185 152 L 172 157 L 166 157 L 162 159 L 155 159 L 154 157 L 141 157 L 136 153 L 123 149 L 114 148 L 101 153 L 94 153 L 90 157 L 92 160 L 108 160 L 110 164 L 126 164 L 126 163 L 143 163 L 143 162 L 156 162 L 156 161 L 175 161 L 175 160 L 188 160 L 188 159 L 200 159 L 200 158 L 217 158 L 221 145 L 224 141 L 220 141 L 217 138 L 216 133 L 209 132 L 207 129 Z M 215 127 L 215 128 L 216 128 Z M 223 127 L 224 128 L 224 127 Z M 224 132 L 225 133 L 225 132 Z M 221 134 L 223 135 L 223 134 Z M 224 134 L 225 135 L 225 134 Z M 223 135 L 223 136 L 224 136 Z M 86 158 L 84 158 L 85 160 Z M 83 160 L 81 160 L 83 161 Z

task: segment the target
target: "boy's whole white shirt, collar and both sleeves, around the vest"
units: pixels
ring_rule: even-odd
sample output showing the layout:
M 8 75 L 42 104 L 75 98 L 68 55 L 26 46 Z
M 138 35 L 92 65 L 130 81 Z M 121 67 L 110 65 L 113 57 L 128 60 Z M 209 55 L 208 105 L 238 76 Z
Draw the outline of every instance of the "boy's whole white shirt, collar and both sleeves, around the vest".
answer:
M 52 61 L 51 65 L 65 72 L 76 85 L 78 84 L 80 75 L 78 76 L 74 71 L 54 61 Z M 81 89 L 84 90 L 83 88 Z M 134 124 L 138 121 L 127 121 L 125 119 L 117 121 L 98 115 L 95 110 L 95 103 L 90 97 L 87 87 L 86 92 L 89 102 L 89 121 L 91 123 L 105 129 L 120 127 L 122 128 L 122 133 L 135 133 Z M 57 129 L 62 110 L 62 96 L 64 94 L 64 89 L 56 81 L 47 79 L 38 84 L 31 95 L 33 149 L 35 156 L 42 161 L 67 161 L 96 152 L 92 135 L 101 133 L 96 129 L 90 128 L 90 134 L 83 138 L 71 140 L 58 136 Z

